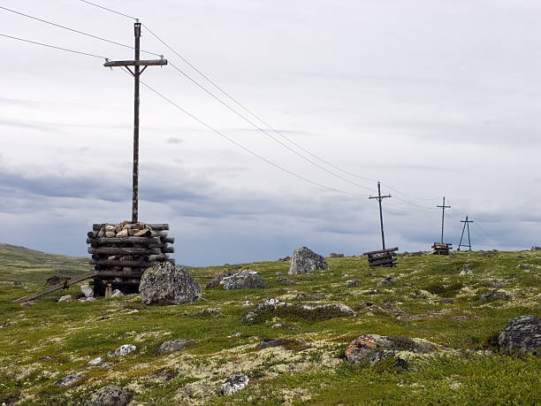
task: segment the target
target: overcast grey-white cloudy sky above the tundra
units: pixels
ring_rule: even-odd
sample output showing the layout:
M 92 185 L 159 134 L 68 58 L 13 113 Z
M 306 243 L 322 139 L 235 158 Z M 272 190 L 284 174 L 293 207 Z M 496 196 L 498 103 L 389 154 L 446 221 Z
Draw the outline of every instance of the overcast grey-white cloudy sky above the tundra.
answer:
M 301 246 L 323 255 L 379 249 L 373 180 L 392 195 L 387 246 L 430 249 L 443 195 L 455 248 L 466 214 L 474 249 L 541 245 L 537 0 L 95 1 L 140 18 L 281 134 L 361 177 L 267 131 L 348 181 L 324 172 L 171 65 L 149 67 L 142 79 L 180 107 L 339 190 L 279 171 L 142 88 L 140 218 L 171 225 L 178 264 L 274 260 Z M 78 0 L 1 5 L 133 43 L 133 20 Z M 133 58 L 8 11 L 0 23 L 0 34 Z M 145 27 L 142 35 L 143 50 L 241 111 Z M 92 223 L 131 218 L 133 79 L 100 58 L 5 37 L 0 51 L 0 241 L 88 256 Z

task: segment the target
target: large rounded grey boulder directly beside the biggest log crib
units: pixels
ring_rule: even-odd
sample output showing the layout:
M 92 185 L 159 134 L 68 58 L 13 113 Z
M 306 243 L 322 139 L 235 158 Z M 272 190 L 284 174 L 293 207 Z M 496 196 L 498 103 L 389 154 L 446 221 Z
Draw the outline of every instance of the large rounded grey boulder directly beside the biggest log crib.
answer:
M 142 274 L 139 292 L 145 304 L 196 303 L 201 297 L 201 286 L 187 270 L 164 262 Z

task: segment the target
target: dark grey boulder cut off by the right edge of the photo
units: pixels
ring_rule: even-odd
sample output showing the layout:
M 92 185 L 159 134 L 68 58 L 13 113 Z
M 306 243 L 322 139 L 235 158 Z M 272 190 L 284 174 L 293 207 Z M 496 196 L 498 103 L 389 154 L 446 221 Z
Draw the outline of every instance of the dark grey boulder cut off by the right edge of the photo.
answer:
M 541 355 L 541 320 L 534 316 L 509 320 L 498 334 L 498 346 L 508 353 L 521 351 Z

